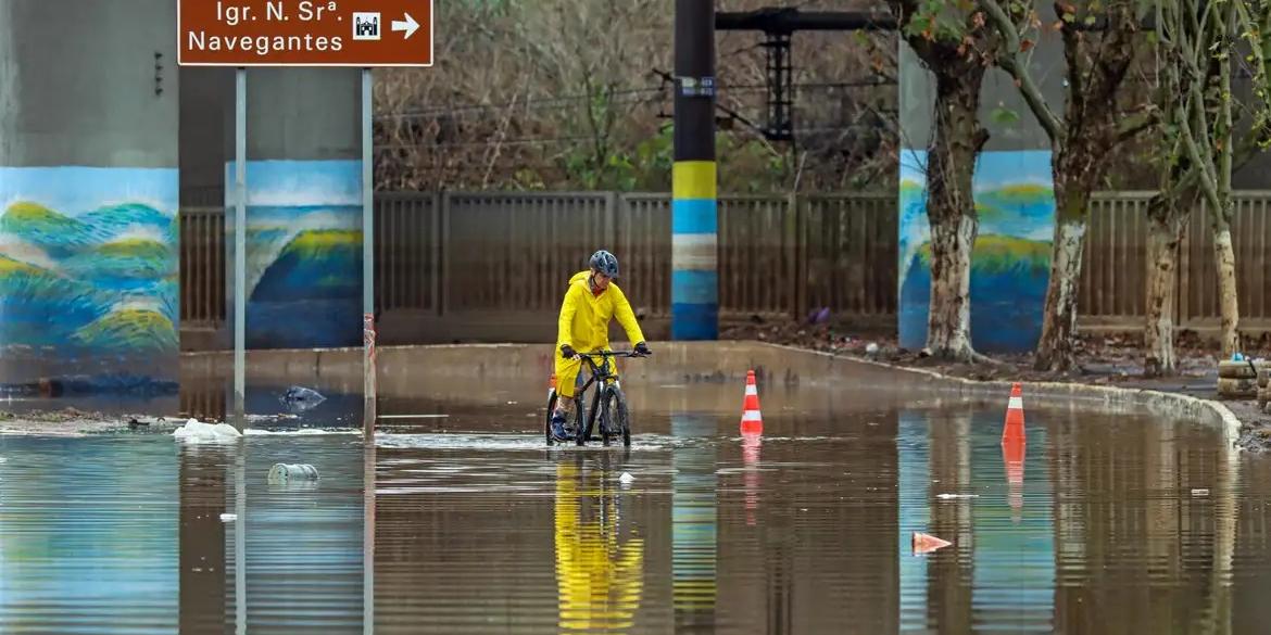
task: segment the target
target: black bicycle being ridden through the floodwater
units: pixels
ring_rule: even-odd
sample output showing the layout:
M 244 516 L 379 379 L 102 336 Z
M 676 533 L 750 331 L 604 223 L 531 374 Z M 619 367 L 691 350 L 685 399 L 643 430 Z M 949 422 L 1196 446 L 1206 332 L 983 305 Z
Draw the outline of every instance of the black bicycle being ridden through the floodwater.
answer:
M 578 446 L 587 444 L 587 441 L 601 441 L 604 444 L 609 444 L 610 439 L 622 436 L 623 444 L 632 444 L 632 431 L 630 420 L 627 411 L 627 395 L 623 394 L 623 389 L 619 385 L 618 377 L 610 372 L 610 357 L 644 357 L 634 351 L 601 351 L 597 353 L 576 353 L 591 370 L 591 377 L 587 382 L 582 385 L 573 395 L 573 442 Z M 592 359 L 599 357 L 602 359 L 600 364 Z M 581 371 L 580 371 L 581 377 Z M 586 405 L 587 389 L 591 385 L 596 385 L 595 396 L 591 400 L 591 415 L 587 417 L 588 410 Z M 548 446 L 558 443 L 555 438 L 552 437 L 552 413 L 555 411 L 557 404 L 557 390 L 555 387 L 548 391 L 548 414 L 543 424 L 543 434 L 547 439 Z M 600 415 L 600 437 L 592 437 L 591 433 L 596 425 L 596 415 Z M 583 419 L 586 418 L 586 427 L 583 425 Z M 616 419 L 616 420 L 614 420 Z M 566 424 L 569 424 L 567 420 Z M 616 427 L 616 429 L 615 429 Z M 564 443 L 561 441 L 559 443 Z

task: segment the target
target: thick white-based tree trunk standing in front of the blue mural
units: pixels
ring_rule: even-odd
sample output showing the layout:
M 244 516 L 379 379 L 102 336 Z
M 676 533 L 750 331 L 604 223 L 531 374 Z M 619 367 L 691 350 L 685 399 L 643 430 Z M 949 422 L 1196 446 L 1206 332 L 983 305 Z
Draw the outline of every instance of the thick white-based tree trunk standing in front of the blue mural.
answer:
M 927 220 L 932 230 L 932 292 L 927 348 L 935 357 L 970 362 L 971 250 L 980 229 L 971 179 L 988 140 L 976 118 L 984 69 L 938 67 L 935 126 L 927 155 Z

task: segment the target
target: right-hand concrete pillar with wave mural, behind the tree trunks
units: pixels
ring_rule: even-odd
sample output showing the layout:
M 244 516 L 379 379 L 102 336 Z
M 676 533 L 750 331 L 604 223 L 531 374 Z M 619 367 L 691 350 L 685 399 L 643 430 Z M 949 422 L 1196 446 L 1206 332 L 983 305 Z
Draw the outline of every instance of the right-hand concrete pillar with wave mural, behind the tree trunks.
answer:
M 1037 3 L 1042 24 L 1054 6 Z M 1042 29 L 1032 56 L 1033 77 L 1051 108 L 1063 112 L 1063 42 Z M 1027 352 L 1041 337 L 1041 311 L 1050 279 L 1055 202 L 1050 141 L 1012 79 L 990 69 L 980 90 L 980 122 L 989 142 L 975 169 L 980 237 L 972 251 L 971 339 L 984 352 Z M 906 348 L 927 342 L 930 268 L 921 253 L 930 237 L 925 166 L 935 103 L 934 77 L 900 44 L 900 290 L 899 331 Z M 1003 117 L 1005 113 L 1013 116 Z

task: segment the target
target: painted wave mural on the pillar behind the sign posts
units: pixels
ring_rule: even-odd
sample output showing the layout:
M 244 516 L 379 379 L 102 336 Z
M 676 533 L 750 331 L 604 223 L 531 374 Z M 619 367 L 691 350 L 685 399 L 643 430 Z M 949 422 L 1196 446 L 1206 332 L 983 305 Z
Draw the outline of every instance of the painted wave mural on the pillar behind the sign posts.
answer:
M 234 169 L 226 164 L 231 217 Z M 247 189 L 245 345 L 361 345 L 362 163 L 248 161 Z M 231 255 L 233 235 L 228 246 Z M 226 262 L 233 267 L 233 258 Z

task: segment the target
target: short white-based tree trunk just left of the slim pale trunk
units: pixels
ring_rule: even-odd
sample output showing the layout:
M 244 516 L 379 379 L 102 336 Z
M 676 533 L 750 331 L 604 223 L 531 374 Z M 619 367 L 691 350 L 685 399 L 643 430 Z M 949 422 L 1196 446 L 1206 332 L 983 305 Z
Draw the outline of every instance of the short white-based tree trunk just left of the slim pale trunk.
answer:
M 1145 377 L 1178 372 L 1174 357 L 1174 306 L 1178 298 L 1178 244 L 1187 215 L 1168 194 L 1148 207 L 1148 321 L 1144 329 Z

